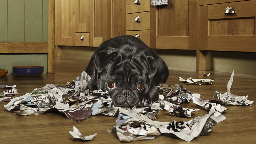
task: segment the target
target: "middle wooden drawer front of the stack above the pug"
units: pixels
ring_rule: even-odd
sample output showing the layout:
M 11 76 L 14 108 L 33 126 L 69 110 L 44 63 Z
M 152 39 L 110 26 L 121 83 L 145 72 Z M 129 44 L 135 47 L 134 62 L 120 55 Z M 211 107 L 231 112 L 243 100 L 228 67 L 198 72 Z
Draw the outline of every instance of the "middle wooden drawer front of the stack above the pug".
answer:
M 135 22 L 136 16 L 139 16 L 141 21 Z M 149 30 L 150 29 L 150 12 L 126 14 L 126 30 Z

